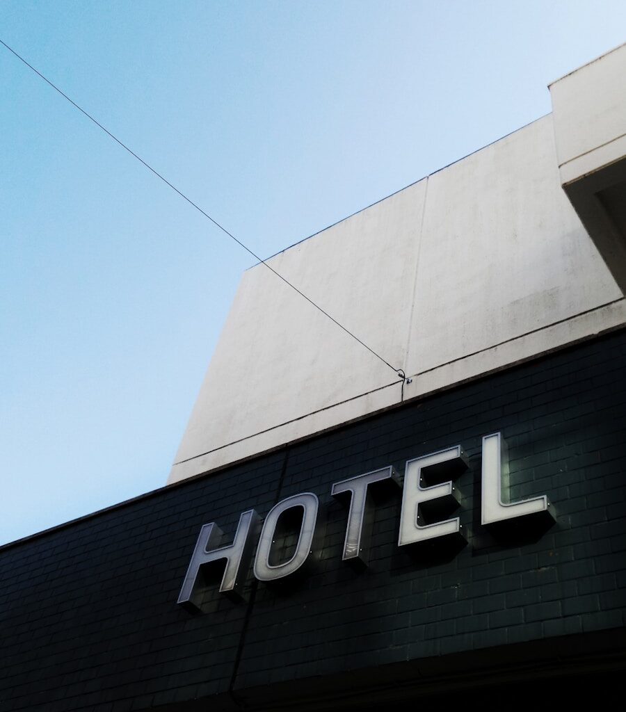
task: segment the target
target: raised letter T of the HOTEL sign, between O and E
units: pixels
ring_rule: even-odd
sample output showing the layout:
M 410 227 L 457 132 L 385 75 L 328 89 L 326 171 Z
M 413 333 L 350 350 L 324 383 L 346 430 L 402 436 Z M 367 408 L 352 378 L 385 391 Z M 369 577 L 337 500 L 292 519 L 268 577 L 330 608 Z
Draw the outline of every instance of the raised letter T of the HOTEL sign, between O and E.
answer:
M 364 475 L 335 482 L 330 493 L 337 499 L 343 499 L 342 495 L 350 498 L 350 511 L 348 512 L 348 527 L 345 530 L 345 542 L 343 544 L 343 561 L 359 561 L 367 565 L 367 554 L 369 550 L 369 540 L 371 520 L 373 518 L 373 506 L 367 498 L 367 486 L 372 483 L 390 480 L 399 484 L 394 468 L 385 467 L 374 472 L 366 472 Z M 367 528 L 363 535 L 363 523 Z

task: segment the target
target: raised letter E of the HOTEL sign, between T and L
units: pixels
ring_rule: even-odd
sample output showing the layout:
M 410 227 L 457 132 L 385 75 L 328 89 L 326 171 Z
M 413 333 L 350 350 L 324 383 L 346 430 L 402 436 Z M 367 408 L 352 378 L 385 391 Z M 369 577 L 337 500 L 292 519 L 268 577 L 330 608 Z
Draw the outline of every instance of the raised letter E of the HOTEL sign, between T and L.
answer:
M 423 485 L 428 468 L 431 468 L 432 474 L 449 472 L 448 476 L 457 476 L 466 467 L 467 458 L 460 445 L 407 461 L 398 546 L 421 543 L 451 534 L 460 536 L 458 517 L 424 523 L 425 514 L 429 513 L 428 518 L 434 518 L 438 514 L 437 510 L 443 512 L 458 505 L 458 491 L 452 486 L 452 482 L 442 482 L 432 487 Z

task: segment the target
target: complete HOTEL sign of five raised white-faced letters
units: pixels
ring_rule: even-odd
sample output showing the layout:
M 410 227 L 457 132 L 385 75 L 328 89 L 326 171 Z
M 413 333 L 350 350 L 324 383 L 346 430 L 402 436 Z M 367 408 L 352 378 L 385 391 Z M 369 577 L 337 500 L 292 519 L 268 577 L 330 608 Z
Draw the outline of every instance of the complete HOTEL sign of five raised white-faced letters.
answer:
M 439 450 L 407 461 L 404 483 L 393 467 L 367 472 L 335 482 L 330 489 L 333 497 L 348 503 L 348 520 L 343 544 L 343 561 L 367 565 L 372 518 L 370 486 L 387 482 L 402 486 L 400 534 L 398 546 L 435 543 L 450 538 L 464 542 L 459 517 L 444 518 L 460 505 L 454 480 L 468 466 L 460 445 Z M 436 482 L 436 483 L 434 483 Z M 481 525 L 496 528 L 506 523 L 543 515 L 551 518 L 546 495 L 518 502 L 508 496 L 508 456 L 500 433 L 484 436 L 481 467 Z M 290 511 L 301 514 L 295 551 L 288 560 L 276 562 L 272 556 L 279 538 L 279 520 Z M 239 595 L 249 570 L 254 540 L 258 537 L 254 556 L 254 576 L 259 581 L 273 582 L 293 575 L 318 550 L 315 541 L 321 535 L 318 522 L 319 500 L 312 492 L 303 492 L 278 502 L 261 525 L 261 517 L 249 509 L 241 514 L 234 540 L 224 545 L 224 533 L 217 523 L 204 524 L 198 535 L 187 574 L 184 577 L 178 603 L 190 610 L 199 610 L 202 584 L 199 575 L 208 564 L 224 561 L 224 575 L 219 591 Z

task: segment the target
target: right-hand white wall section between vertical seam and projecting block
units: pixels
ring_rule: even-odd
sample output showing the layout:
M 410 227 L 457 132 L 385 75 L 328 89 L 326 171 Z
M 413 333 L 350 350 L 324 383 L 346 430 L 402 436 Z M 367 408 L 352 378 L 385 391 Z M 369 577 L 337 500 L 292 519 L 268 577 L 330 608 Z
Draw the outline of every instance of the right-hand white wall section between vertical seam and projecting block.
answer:
M 619 297 L 560 187 L 544 117 L 428 179 L 407 373 Z

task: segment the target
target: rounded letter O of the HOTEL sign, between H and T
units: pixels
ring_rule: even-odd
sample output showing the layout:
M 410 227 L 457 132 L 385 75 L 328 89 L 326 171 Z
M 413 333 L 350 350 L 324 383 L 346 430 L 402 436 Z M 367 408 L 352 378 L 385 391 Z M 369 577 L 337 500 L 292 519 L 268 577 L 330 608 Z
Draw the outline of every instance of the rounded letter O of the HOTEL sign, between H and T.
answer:
M 261 530 L 261 538 L 259 538 L 259 546 L 256 549 L 256 558 L 254 560 L 254 575 L 259 581 L 275 581 L 293 574 L 307 560 L 313 544 L 315 521 L 318 518 L 318 503 L 317 496 L 311 492 L 304 492 L 283 499 L 282 502 L 278 502 L 276 506 L 271 508 Z M 278 518 L 283 512 L 296 507 L 303 509 L 296 551 L 288 561 L 271 564 L 270 556 Z

